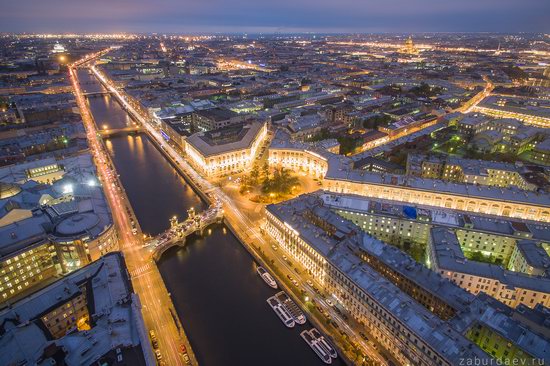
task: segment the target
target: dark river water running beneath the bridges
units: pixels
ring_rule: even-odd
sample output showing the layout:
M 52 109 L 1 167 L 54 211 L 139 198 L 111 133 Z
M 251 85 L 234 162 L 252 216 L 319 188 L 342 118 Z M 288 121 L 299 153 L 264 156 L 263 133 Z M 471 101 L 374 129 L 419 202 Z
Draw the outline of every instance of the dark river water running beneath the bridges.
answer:
M 85 70 L 79 78 L 86 91 L 101 90 Z M 108 95 L 90 98 L 90 107 L 108 128 L 131 123 Z M 145 135 L 113 137 L 106 145 L 145 233 L 158 234 L 170 217 L 205 207 Z M 225 225 L 168 250 L 158 266 L 201 365 L 323 364 L 299 334 L 311 325 L 282 324 L 266 303 L 276 291 L 258 277 L 252 257 Z

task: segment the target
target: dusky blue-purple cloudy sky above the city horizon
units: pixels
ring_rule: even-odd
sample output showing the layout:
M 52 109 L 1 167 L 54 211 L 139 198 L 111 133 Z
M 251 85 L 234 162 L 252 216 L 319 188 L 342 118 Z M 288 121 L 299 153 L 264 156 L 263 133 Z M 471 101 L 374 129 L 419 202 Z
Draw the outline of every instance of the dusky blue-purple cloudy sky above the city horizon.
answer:
M 550 0 L 0 0 L 24 31 L 550 33 Z

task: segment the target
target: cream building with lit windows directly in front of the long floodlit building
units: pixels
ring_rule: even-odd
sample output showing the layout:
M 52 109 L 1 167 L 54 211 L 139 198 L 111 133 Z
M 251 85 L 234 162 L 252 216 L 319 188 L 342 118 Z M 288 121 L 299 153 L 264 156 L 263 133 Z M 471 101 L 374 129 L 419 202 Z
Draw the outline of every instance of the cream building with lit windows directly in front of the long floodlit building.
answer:
M 517 243 L 526 239 L 550 243 L 550 225 L 540 223 L 434 207 L 414 207 L 397 201 L 335 195 L 330 192 L 319 194 L 319 197 L 326 207 L 365 232 L 398 247 L 416 245 L 425 248 L 430 230 L 444 227 L 456 233 L 461 250 L 468 256 L 477 252 L 512 269 L 512 256 Z

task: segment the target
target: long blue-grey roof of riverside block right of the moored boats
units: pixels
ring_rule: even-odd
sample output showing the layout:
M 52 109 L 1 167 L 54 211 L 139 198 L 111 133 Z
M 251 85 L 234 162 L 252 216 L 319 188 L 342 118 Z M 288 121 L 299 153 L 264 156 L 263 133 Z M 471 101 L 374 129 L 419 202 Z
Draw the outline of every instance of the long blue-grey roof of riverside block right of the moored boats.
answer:
M 318 194 L 302 195 L 279 204 L 271 204 L 266 210 L 294 230 L 296 235 L 348 277 L 355 286 L 399 318 L 408 330 L 419 335 L 451 363 L 458 363 L 464 358 L 489 357 L 463 335 L 480 322 L 486 323 L 489 328 L 517 344 L 528 354 L 548 359 L 549 341 L 512 319 L 510 314 L 513 309 L 483 293 L 470 294 L 436 272 L 416 263 L 399 249 L 371 237 L 352 222 L 332 212 Z M 445 230 L 442 229 L 442 235 L 446 235 Z M 455 315 L 447 321 L 436 316 L 374 267 L 362 261 L 363 252 L 371 254 L 394 272 L 437 296 L 455 310 Z M 353 290 L 353 286 L 351 288 Z M 524 337 L 518 337 L 518 332 L 523 332 Z

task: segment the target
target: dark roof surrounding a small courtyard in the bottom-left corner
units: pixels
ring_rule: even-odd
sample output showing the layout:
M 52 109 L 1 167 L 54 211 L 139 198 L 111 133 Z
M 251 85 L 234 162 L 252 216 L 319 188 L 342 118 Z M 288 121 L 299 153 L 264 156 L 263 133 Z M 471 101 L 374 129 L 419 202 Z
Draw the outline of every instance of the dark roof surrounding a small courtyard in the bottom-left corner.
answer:
M 52 340 L 41 317 L 83 292 L 92 328 Z M 42 364 L 60 348 L 69 366 L 94 364 L 116 348 L 141 354 L 139 331 L 145 325 L 132 293 L 124 259 L 115 252 L 11 304 L 0 311 L 0 364 Z M 137 360 L 144 364 L 143 357 Z

